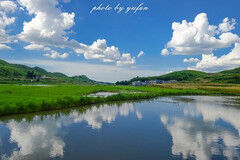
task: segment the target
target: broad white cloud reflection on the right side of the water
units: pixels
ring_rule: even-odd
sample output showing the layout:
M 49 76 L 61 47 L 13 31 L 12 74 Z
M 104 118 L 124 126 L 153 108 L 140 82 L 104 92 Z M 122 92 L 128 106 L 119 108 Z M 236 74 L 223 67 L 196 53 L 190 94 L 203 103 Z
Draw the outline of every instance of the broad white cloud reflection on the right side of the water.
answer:
M 184 159 L 195 157 L 207 160 L 213 155 L 240 159 L 237 149 L 240 147 L 240 110 L 224 106 L 226 99 L 222 97 L 193 99 L 187 102 L 189 105 L 184 105 L 184 117 L 160 115 L 161 122 L 172 136 L 172 154 L 182 155 Z M 202 121 L 196 120 L 196 117 L 202 117 Z M 238 134 L 216 126 L 218 120 L 234 126 Z

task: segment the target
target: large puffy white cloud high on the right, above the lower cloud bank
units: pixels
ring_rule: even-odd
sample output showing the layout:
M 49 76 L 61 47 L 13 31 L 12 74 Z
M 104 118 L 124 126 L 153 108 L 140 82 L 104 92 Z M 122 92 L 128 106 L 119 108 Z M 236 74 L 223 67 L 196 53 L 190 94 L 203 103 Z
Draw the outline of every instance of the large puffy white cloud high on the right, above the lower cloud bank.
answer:
M 174 22 L 172 39 L 161 54 L 211 54 L 215 49 L 230 47 L 232 44 L 240 42 L 238 35 L 227 32 L 231 31 L 234 25 L 235 21 L 229 22 L 228 19 L 225 19 L 219 28 L 210 25 L 206 13 L 197 15 L 193 22 L 186 20 L 183 20 L 182 23 Z M 217 38 L 219 31 L 224 33 Z

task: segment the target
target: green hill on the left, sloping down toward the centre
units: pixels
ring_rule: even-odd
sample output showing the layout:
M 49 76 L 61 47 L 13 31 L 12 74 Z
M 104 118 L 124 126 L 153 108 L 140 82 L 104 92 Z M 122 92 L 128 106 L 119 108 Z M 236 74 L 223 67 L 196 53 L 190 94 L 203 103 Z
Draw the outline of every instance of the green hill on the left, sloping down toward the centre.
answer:
M 59 72 L 48 72 L 40 67 L 28 67 L 0 60 L 0 83 L 98 83 L 85 75 L 68 77 Z

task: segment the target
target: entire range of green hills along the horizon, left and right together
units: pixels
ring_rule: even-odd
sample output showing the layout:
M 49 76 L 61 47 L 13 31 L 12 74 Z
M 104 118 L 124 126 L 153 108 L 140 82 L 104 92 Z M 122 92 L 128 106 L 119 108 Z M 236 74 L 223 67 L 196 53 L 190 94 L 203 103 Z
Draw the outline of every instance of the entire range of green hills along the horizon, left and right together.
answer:
M 129 81 L 116 82 L 116 85 L 130 85 L 135 81 L 177 80 L 178 82 L 209 82 L 240 84 L 240 68 L 225 70 L 218 73 L 206 73 L 194 70 L 183 70 L 160 76 L 135 77 Z M 29 67 L 11 64 L 0 60 L 0 83 L 74 83 L 74 84 L 112 84 L 97 82 L 85 75 L 69 77 L 60 72 L 48 72 L 40 67 Z

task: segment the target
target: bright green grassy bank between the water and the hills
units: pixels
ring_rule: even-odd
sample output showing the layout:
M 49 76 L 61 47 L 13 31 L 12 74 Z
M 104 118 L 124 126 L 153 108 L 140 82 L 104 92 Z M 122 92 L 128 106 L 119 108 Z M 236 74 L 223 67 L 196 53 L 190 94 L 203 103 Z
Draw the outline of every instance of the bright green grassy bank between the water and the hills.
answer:
M 173 84 L 171 86 L 174 86 Z M 130 87 L 106 85 L 22 86 L 0 85 L 0 115 L 31 113 L 46 110 L 81 107 L 89 104 L 148 99 L 169 95 L 240 95 L 232 89 L 194 87 Z M 177 85 L 179 86 L 179 85 Z M 132 91 L 140 91 L 131 93 Z M 109 97 L 88 97 L 90 93 L 118 92 Z

